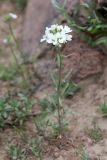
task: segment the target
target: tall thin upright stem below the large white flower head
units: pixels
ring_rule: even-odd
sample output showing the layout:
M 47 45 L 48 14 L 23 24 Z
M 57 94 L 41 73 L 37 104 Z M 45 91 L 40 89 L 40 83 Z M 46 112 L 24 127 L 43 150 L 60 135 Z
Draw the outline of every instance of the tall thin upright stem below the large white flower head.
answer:
M 58 99 L 58 104 L 57 104 L 57 112 L 58 112 L 58 124 L 59 124 L 59 135 L 61 134 L 62 131 L 62 123 L 61 123 L 61 105 L 60 105 L 60 98 L 61 98 L 61 72 L 62 72 L 62 59 L 61 59 L 61 53 L 60 50 L 58 49 L 58 57 L 59 57 L 59 64 L 58 64 L 58 85 L 57 85 L 57 99 Z

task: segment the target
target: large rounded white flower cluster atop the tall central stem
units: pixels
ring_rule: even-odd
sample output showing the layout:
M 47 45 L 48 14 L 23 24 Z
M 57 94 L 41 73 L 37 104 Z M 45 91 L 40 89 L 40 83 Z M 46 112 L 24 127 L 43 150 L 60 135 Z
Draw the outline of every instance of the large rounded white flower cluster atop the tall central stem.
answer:
M 41 42 L 46 41 L 49 44 L 61 47 L 63 44 L 72 40 L 72 35 L 69 34 L 71 32 L 72 30 L 68 26 L 55 24 L 50 28 L 46 27 L 45 35 L 43 35 Z

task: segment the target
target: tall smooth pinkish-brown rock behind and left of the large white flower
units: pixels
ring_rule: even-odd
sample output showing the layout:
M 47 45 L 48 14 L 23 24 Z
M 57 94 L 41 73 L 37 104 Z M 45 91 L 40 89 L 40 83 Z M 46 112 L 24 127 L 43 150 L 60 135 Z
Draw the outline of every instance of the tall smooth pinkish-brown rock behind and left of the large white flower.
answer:
M 45 27 L 51 24 L 54 17 L 55 11 L 50 0 L 28 1 L 22 44 L 23 51 L 28 57 L 37 51 Z

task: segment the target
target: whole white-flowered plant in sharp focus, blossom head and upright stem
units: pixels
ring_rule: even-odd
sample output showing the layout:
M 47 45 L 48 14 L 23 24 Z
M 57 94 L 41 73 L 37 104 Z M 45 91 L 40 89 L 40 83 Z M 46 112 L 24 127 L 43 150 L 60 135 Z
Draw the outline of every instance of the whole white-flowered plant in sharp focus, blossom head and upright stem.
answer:
M 41 42 L 46 42 L 50 45 L 53 45 L 56 50 L 56 59 L 58 67 L 58 76 L 55 85 L 56 89 L 56 99 L 57 99 L 57 115 L 58 115 L 58 133 L 61 135 L 62 132 L 62 121 L 61 121 L 61 85 L 62 85 L 62 54 L 61 48 L 64 44 L 72 40 L 71 35 L 72 30 L 67 26 L 62 26 L 58 24 L 52 25 L 50 28 L 46 27 L 45 35 L 41 39 Z

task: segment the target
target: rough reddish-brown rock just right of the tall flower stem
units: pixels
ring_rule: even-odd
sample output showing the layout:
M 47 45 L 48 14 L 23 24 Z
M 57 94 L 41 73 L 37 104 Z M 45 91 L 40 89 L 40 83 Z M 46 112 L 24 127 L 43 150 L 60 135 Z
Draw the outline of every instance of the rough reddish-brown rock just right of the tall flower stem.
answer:
M 72 77 L 81 80 L 102 72 L 102 55 L 80 42 L 71 42 L 64 49 L 68 58 L 64 60 L 64 70 L 72 70 Z

